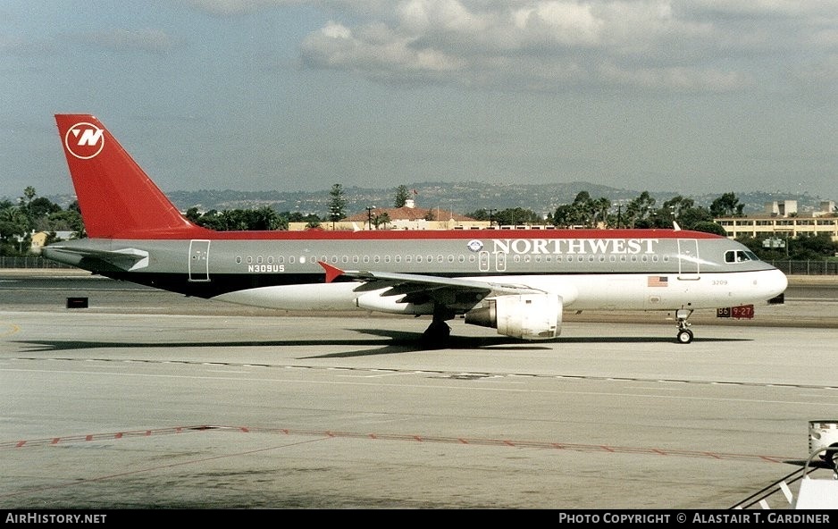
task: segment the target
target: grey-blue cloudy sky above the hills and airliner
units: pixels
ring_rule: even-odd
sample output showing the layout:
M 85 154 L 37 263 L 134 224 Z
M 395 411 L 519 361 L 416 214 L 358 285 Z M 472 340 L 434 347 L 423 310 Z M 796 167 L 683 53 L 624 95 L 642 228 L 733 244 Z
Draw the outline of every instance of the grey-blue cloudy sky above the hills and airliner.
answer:
M 838 200 L 838 0 L 0 0 L 0 101 L 12 199 L 93 113 L 164 191 Z

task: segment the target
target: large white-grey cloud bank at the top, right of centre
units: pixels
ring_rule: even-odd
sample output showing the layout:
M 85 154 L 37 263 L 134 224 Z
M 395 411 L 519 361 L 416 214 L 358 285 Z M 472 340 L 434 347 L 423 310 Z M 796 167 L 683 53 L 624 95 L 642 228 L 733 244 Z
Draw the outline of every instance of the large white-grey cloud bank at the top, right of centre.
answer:
M 399 82 L 563 90 L 594 80 L 712 92 L 747 84 L 732 65 L 708 64 L 708 38 L 723 29 L 679 13 L 658 0 L 406 0 L 354 26 L 330 22 L 301 50 L 313 67 Z

